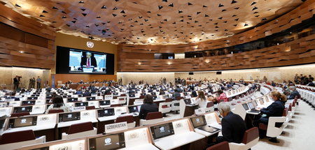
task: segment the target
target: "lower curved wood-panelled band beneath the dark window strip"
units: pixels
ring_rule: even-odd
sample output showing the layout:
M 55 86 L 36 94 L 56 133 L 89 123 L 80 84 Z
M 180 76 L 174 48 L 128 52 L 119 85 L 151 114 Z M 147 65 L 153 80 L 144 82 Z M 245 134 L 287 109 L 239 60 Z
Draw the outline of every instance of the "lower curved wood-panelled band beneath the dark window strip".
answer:
M 188 59 L 121 59 L 119 70 L 121 72 L 232 70 L 315 63 L 314 47 L 315 34 L 281 45 L 223 56 Z

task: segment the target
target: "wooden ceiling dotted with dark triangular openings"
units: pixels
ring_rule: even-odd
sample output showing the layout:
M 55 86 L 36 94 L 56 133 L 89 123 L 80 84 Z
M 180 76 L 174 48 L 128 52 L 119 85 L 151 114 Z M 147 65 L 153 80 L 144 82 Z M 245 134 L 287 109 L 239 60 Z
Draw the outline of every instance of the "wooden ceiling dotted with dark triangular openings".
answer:
M 0 0 L 56 31 L 111 43 L 169 45 L 233 36 L 302 0 Z

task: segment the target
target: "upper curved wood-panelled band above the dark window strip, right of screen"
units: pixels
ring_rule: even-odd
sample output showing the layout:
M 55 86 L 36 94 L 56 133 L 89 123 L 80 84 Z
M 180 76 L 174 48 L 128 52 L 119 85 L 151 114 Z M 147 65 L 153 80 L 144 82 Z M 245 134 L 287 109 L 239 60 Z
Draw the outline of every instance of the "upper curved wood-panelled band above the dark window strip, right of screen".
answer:
M 315 0 L 305 1 L 301 6 L 291 10 L 271 22 L 263 24 L 260 27 L 236 34 L 228 38 L 218 40 L 209 40 L 201 43 L 191 43 L 185 45 L 128 45 L 122 44 L 121 52 L 135 53 L 183 53 L 201 50 L 214 50 L 223 47 L 230 47 L 248 43 L 269 36 L 272 33 L 278 33 L 285 29 L 300 24 L 302 20 L 307 20 L 315 14 Z M 198 46 L 196 48 L 196 45 Z

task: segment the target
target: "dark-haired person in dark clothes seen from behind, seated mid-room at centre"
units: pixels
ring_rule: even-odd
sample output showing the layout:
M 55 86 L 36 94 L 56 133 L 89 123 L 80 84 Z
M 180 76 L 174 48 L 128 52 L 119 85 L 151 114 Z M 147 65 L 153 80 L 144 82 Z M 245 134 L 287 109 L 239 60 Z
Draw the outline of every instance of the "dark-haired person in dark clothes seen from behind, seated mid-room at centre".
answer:
M 146 114 L 149 112 L 158 112 L 158 106 L 153 103 L 153 98 L 150 94 L 146 94 L 144 96 L 144 104 L 141 105 L 139 112 L 139 119 L 146 119 Z

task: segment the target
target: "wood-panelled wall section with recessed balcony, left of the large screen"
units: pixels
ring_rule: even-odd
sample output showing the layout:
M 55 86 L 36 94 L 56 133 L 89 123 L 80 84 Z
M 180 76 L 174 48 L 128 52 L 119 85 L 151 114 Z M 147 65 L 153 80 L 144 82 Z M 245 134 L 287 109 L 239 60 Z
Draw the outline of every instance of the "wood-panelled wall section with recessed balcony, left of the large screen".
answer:
M 0 14 L 0 66 L 54 69 L 55 30 L 2 4 Z

